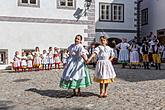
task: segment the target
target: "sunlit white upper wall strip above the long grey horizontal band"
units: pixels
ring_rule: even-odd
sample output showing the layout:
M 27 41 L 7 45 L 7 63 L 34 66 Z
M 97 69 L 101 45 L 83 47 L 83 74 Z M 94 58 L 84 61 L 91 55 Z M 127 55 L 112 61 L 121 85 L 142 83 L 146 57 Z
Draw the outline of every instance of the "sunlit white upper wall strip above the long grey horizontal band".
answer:
M 76 8 L 84 9 L 84 0 L 76 0 Z M 18 0 L 0 0 L 0 16 L 75 19 L 73 17 L 75 11 L 58 9 L 57 0 L 40 0 L 40 8 L 18 6 Z

